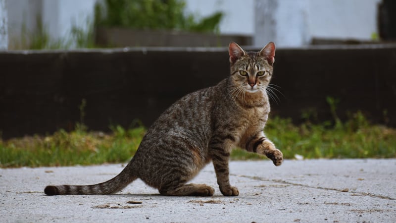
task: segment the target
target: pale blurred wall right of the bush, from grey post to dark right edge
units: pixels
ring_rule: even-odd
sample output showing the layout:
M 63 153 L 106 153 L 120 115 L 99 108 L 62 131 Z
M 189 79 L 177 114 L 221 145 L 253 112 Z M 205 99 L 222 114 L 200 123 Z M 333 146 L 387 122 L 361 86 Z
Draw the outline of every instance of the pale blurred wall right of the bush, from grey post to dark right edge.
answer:
M 254 45 L 300 47 L 313 38 L 371 40 L 380 0 L 255 0 Z

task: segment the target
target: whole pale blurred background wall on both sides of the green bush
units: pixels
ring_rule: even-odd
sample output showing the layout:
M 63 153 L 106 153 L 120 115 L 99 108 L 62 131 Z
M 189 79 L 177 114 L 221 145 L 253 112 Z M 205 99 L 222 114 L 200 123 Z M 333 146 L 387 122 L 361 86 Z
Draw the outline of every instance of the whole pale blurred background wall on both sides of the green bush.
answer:
M 36 16 L 53 38 L 67 38 L 73 24 L 86 27 L 97 0 L 8 0 L 10 40 L 22 24 L 34 31 Z M 222 34 L 254 35 L 254 45 L 299 47 L 312 38 L 370 40 L 377 31 L 380 0 L 186 0 L 187 12 L 206 16 L 223 11 Z M 92 21 L 92 20 L 91 20 Z M 10 43 L 12 44 L 12 43 Z

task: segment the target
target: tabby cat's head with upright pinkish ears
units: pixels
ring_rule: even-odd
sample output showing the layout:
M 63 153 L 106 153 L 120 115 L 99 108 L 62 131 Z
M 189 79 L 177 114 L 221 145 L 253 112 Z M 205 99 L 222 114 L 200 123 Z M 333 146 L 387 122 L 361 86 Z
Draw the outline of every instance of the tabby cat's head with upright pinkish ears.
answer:
M 272 76 L 275 44 L 268 43 L 259 52 L 245 52 L 231 42 L 228 48 L 233 85 L 244 93 L 265 92 Z

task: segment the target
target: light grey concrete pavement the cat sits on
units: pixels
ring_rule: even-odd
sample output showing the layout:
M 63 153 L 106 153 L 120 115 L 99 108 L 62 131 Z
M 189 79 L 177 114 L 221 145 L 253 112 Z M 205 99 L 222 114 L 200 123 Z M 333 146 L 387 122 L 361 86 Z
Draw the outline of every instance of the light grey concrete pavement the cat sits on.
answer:
M 160 196 L 140 180 L 114 195 L 43 193 L 48 184 L 98 183 L 122 168 L 0 169 L 0 222 L 396 222 L 396 159 L 235 161 L 238 197 L 221 195 L 211 164 L 193 182 L 213 186 L 212 197 Z

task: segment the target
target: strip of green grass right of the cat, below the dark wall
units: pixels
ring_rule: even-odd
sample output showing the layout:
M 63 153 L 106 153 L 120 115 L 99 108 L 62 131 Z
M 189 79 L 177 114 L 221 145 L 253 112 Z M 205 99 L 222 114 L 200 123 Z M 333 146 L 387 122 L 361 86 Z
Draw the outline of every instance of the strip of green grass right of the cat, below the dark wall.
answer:
M 291 119 L 275 117 L 265 127 L 266 136 L 286 159 L 301 155 L 313 158 L 396 158 L 396 129 L 371 125 L 360 112 L 347 122 L 294 125 Z M 232 159 L 263 159 L 234 150 Z

